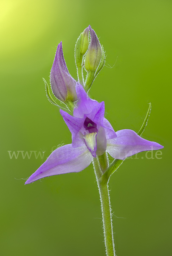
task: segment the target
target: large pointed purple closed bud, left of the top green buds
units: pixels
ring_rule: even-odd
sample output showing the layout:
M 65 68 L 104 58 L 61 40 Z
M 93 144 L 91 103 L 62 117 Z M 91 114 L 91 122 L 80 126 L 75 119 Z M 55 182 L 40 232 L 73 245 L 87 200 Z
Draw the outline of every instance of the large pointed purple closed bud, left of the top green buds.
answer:
M 50 73 L 51 89 L 62 102 L 75 102 L 76 96 L 76 81 L 70 76 L 65 63 L 62 50 L 62 42 L 58 45 L 53 66 Z

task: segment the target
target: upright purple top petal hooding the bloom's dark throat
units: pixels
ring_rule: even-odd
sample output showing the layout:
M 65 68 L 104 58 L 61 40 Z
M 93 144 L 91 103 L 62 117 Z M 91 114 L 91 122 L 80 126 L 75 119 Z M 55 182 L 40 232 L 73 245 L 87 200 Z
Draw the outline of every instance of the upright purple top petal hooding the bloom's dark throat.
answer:
M 78 103 L 74 108 L 73 116 L 83 118 L 84 114 L 89 114 L 93 108 L 99 104 L 96 100 L 90 99 L 81 84 L 76 84 L 76 94 Z

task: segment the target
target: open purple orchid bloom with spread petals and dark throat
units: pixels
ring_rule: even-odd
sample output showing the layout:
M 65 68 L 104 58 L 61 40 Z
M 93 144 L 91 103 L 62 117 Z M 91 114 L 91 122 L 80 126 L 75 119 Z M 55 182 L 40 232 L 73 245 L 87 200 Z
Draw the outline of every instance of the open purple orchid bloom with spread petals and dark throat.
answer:
M 90 165 L 93 157 L 105 151 L 124 160 L 141 151 L 163 148 L 156 142 L 144 140 L 132 130 L 115 132 L 104 118 L 104 102 L 90 99 L 80 84 L 76 84 L 76 93 L 79 100 L 73 116 L 60 110 L 72 134 L 72 144 L 54 150 L 25 184 L 51 175 L 80 172 Z

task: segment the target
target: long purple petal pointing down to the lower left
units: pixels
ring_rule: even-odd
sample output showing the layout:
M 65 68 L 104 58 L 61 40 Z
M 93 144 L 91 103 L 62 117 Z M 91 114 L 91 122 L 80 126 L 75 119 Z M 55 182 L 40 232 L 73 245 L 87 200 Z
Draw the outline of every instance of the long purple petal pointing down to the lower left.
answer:
M 25 184 L 43 177 L 69 172 L 80 172 L 90 165 L 93 157 L 86 146 L 73 148 L 71 144 L 54 150 L 45 163 L 37 169 Z

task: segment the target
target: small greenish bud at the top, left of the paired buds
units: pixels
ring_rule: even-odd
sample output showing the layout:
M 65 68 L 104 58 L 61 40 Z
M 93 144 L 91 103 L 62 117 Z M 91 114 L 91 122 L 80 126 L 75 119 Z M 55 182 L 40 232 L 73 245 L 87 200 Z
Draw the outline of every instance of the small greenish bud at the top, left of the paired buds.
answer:
M 87 52 L 89 45 L 89 27 L 87 27 L 79 36 L 75 45 L 75 61 L 76 66 L 80 66 L 82 64 L 83 55 Z

